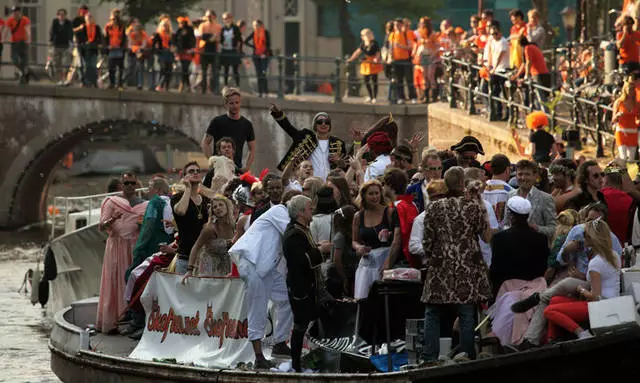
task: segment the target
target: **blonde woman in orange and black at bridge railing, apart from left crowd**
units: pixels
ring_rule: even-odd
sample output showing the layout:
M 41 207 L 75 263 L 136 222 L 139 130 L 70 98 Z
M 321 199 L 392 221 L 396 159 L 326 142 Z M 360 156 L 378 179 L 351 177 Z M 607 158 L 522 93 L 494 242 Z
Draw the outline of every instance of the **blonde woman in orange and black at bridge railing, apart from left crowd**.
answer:
M 360 63 L 360 74 L 364 78 L 364 84 L 369 94 L 364 101 L 375 104 L 376 98 L 378 98 L 378 74 L 382 72 L 380 45 L 374 39 L 373 32 L 369 28 L 360 31 L 360 38 L 362 38 L 362 44 L 353 52 L 347 62 L 352 62 L 364 55 Z

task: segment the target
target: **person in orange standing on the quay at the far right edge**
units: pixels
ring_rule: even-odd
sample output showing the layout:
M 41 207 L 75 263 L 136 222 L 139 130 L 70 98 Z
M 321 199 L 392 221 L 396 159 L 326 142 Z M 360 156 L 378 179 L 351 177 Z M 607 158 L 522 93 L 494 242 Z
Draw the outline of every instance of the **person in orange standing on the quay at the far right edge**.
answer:
M 631 79 L 624 83 L 620 97 L 613 103 L 613 124 L 616 128 L 618 156 L 625 161 L 634 159 L 638 149 L 638 123 L 636 114 L 636 87 Z

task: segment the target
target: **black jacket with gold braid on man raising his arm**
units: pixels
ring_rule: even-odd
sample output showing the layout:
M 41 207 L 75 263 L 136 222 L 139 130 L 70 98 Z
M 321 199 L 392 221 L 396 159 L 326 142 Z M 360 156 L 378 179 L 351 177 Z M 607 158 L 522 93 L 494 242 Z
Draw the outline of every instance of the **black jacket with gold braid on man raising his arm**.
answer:
M 276 120 L 278 125 L 293 139 L 293 143 L 287 150 L 287 154 L 282 158 L 278 164 L 278 170 L 283 171 L 287 163 L 292 159 L 296 149 L 299 146 L 304 146 L 306 142 L 305 152 L 308 152 L 307 158 L 311 156 L 311 153 L 318 146 L 318 139 L 314 131 L 310 129 L 296 129 L 284 113 L 280 114 L 271 113 L 271 116 Z M 329 136 L 329 155 L 337 154 L 340 158 L 343 158 L 346 154 L 346 147 L 344 141 L 335 136 Z M 305 159 L 307 159 L 305 158 Z M 339 166 L 339 163 L 331 163 L 331 169 L 335 169 Z

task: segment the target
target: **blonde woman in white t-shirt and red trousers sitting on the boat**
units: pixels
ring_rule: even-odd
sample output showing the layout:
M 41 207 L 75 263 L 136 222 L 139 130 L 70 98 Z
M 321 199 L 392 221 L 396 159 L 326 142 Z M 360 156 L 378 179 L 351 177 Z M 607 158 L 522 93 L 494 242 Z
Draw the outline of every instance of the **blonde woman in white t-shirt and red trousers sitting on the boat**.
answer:
M 548 339 L 557 337 L 558 327 L 575 334 L 579 339 L 591 338 L 589 330 L 578 323 L 589 319 L 589 301 L 615 298 L 620 295 L 620 258 L 614 253 L 609 225 L 598 218 L 585 225 L 585 246 L 592 250 L 593 256 L 587 269 L 587 287 L 578 286 L 576 294 L 579 300 L 556 296 L 544 310 L 549 321 Z

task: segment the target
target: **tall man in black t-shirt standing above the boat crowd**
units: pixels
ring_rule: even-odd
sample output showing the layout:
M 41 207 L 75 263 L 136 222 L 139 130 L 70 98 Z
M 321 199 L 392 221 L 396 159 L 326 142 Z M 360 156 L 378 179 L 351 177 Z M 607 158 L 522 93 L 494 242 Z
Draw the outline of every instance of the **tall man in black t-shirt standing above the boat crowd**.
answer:
M 213 154 L 212 144 L 215 145 L 223 137 L 231 137 L 236 144 L 234 162 L 240 168 L 240 171 L 244 173 L 253 165 L 256 153 L 256 136 L 253 132 L 253 124 L 240 115 L 242 96 L 240 96 L 238 89 L 225 88 L 222 91 L 222 97 L 224 97 L 224 106 L 227 108 L 227 113 L 211 120 L 200 147 L 204 155 L 209 158 Z M 249 157 L 247 158 L 247 164 L 242 166 L 242 151 L 245 142 L 249 147 Z

